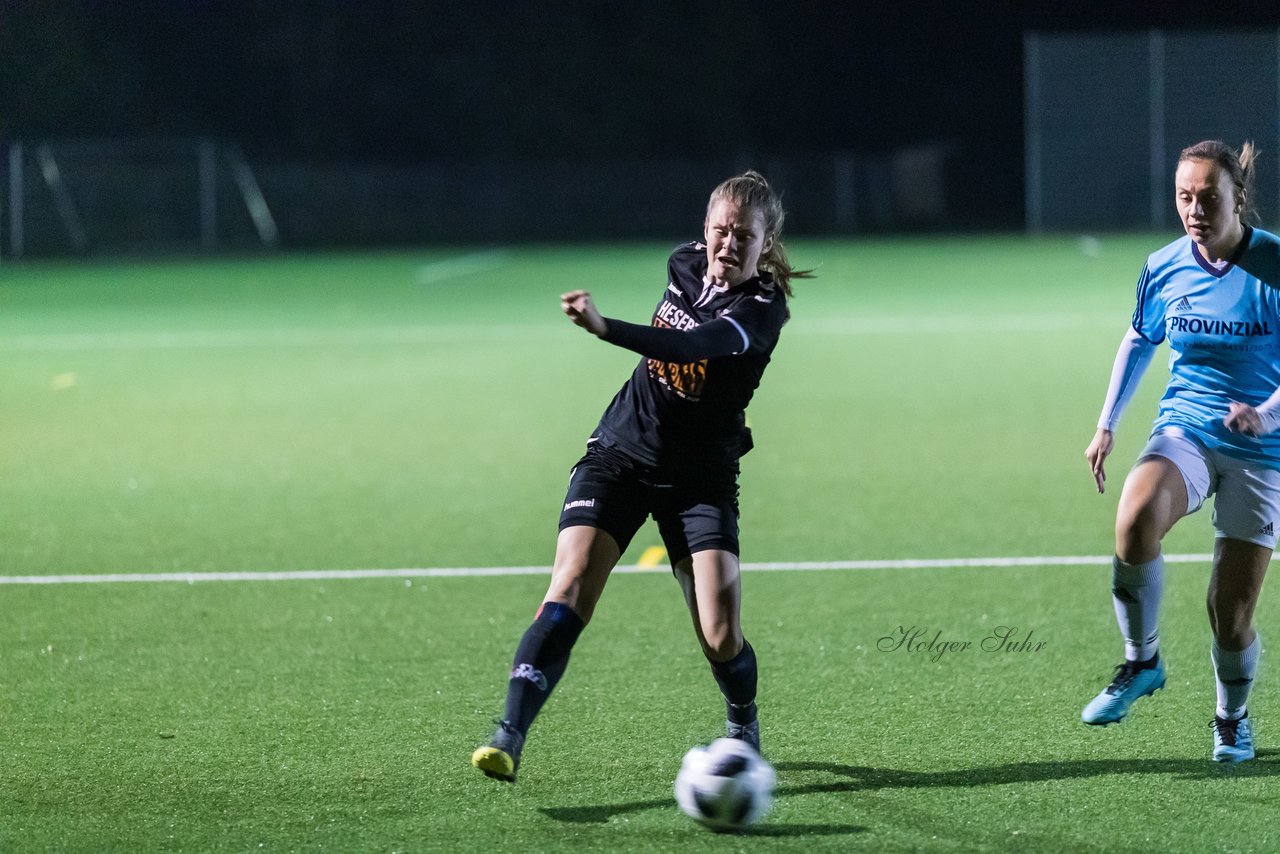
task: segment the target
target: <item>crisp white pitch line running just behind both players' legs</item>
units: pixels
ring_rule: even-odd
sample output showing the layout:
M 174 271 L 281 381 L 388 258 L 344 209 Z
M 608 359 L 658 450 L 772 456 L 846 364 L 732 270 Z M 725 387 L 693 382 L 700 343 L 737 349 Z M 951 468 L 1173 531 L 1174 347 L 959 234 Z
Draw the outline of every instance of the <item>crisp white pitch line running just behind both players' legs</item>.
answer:
M 1212 554 L 1166 554 L 1166 563 L 1208 563 Z M 995 568 L 1007 566 L 1110 566 L 1110 556 L 1060 557 L 951 557 L 896 561 L 795 561 L 744 563 L 745 572 L 823 570 L 924 570 Z M 660 567 L 659 567 L 660 568 Z M 0 584 L 131 584 L 201 581 L 329 581 L 343 579 L 433 579 L 485 575 L 550 575 L 549 566 L 428 567 L 403 570 L 298 570 L 284 572 L 115 572 L 102 575 L 0 575 Z M 620 566 L 614 572 L 653 572 L 654 568 Z

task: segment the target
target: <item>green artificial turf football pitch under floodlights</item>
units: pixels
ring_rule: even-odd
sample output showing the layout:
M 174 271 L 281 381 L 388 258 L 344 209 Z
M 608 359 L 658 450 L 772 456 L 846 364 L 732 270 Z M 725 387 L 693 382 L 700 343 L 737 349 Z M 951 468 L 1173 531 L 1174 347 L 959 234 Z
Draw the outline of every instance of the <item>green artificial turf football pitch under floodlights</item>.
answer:
M 795 241 L 819 278 L 749 411 L 744 561 L 1110 553 L 1162 357 L 1107 494 L 1082 455 L 1165 239 Z M 645 320 L 668 248 L 0 266 L 0 576 L 193 579 L 0 584 L 0 850 L 1280 848 L 1267 657 L 1258 761 L 1208 761 L 1201 562 L 1170 568 L 1167 690 L 1105 730 L 1103 565 L 749 572 L 778 798 L 744 836 L 671 796 L 723 709 L 662 570 L 611 581 L 516 786 L 467 757 L 545 577 L 196 580 L 549 565 L 635 364 L 557 296 Z M 982 650 L 1000 626 L 1043 647 Z M 881 649 L 900 627 L 974 647 Z

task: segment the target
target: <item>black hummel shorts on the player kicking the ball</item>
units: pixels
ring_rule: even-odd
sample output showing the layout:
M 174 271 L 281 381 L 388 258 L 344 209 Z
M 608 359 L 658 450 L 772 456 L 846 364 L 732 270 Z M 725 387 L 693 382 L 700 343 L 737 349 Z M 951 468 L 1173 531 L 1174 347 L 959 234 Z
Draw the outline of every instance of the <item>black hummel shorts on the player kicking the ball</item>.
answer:
M 737 466 L 671 475 L 588 446 L 570 472 L 559 530 L 599 528 L 625 552 L 649 516 L 672 566 L 707 549 L 737 554 Z

